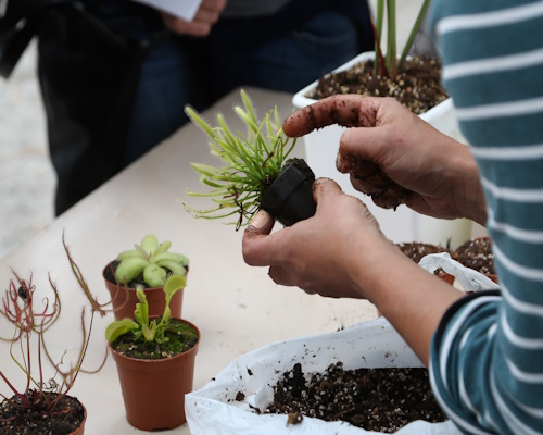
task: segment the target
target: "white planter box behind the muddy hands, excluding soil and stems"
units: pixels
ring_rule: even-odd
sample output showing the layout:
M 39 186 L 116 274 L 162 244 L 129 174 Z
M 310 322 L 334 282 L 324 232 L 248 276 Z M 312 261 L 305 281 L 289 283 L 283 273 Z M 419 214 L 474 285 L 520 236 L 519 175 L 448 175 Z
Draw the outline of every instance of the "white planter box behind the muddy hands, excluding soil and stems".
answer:
M 358 62 L 374 58 L 374 52 L 358 54 L 353 60 L 334 70 L 334 72 L 349 70 Z M 318 80 L 313 82 L 292 99 L 295 108 L 302 109 L 316 100 L 305 97 L 312 89 L 316 88 Z M 422 120 L 434 126 L 440 132 L 465 142 L 451 99 L 443 101 L 428 112 L 420 115 Z M 341 174 L 336 169 L 336 156 L 338 153 L 341 134 L 345 127 L 330 125 L 304 136 L 306 161 L 317 177 L 334 179 L 349 195 L 364 200 L 371 213 L 376 216 L 381 231 L 393 241 L 424 241 L 434 245 L 446 246 L 451 239 L 451 248 L 456 248 L 471 237 L 471 222 L 467 220 L 445 221 L 420 215 L 405 206 L 393 210 L 384 210 L 374 204 L 368 196 L 355 190 L 348 174 Z

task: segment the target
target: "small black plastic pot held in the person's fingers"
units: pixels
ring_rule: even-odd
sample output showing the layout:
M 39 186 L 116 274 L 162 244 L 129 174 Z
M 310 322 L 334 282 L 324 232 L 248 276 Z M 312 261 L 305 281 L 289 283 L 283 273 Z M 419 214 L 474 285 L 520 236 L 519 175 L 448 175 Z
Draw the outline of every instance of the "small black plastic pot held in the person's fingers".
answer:
M 315 174 L 303 159 L 292 159 L 262 197 L 261 207 L 285 226 L 315 214 Z

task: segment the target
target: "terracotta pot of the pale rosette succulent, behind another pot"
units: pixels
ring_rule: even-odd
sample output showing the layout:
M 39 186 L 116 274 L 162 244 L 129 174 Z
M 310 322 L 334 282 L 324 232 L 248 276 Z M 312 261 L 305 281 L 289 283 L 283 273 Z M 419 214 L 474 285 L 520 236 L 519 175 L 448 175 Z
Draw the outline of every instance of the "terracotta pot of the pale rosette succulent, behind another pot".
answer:
M 111 263 L 104 268 L 104 270 L 102 271 L 102 276 L 105 282 L 105 287 L 108 287 L 108 290 L 110 290 L 115 319 L 134 319 L 136 303 L 139 302 L 138 297 L 136 296 L 136 289 L 121 286 L 109 281 L 105 277 L 105 271 L 109 268 L 111 268 Z M 181 316 L 184 290 L 185 289 L 180 289 L 172 297 L 169 309 L 173 318 Z M 164 308 L 166 306 L 163 287 L 146 288 L 144 291 L 147 301 L 149 303 L 149 315 L 161 316 L 164 313 Z

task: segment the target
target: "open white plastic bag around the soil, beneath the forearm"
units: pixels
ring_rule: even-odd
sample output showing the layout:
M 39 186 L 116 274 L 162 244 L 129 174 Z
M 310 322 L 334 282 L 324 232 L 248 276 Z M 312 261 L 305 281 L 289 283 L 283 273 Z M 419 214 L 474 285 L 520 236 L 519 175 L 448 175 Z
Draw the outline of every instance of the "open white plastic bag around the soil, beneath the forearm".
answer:
M 287 425 L 285 414 L 257 414 L 273 400 L 273 386 L 296 362 L 302 371 L 321 373 L 338 361 L 345 370 L 359 368 L 421 366 L 421 362 L 383 318 L 349 328 L 276 343 L 233 360 L 213 381 L 185 399 L 190 433 L 217 435 L 254 434 L 370 434 L 345 422 L 325 422 L 304 417 L 301 424 Z M 237 401 L 238 393 L 244 400 Z M 459 434 L 452 422 L 413 422 L 396 434 Z

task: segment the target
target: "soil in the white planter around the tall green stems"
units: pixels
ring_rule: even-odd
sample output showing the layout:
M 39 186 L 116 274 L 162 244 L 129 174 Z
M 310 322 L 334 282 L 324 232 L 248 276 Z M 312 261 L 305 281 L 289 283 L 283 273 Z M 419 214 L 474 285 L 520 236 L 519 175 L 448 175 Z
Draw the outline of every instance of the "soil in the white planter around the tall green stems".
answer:
M 437 58 L 407 59 L 394 79 L 376 74 L 374 64 L 369 60 L 346 71 L 325 74 L 306 97 L 316 100 L 342 94 L 393 97 L 416 114 L 427 112 L 447 98 L 441 86 L 441 62 Z

